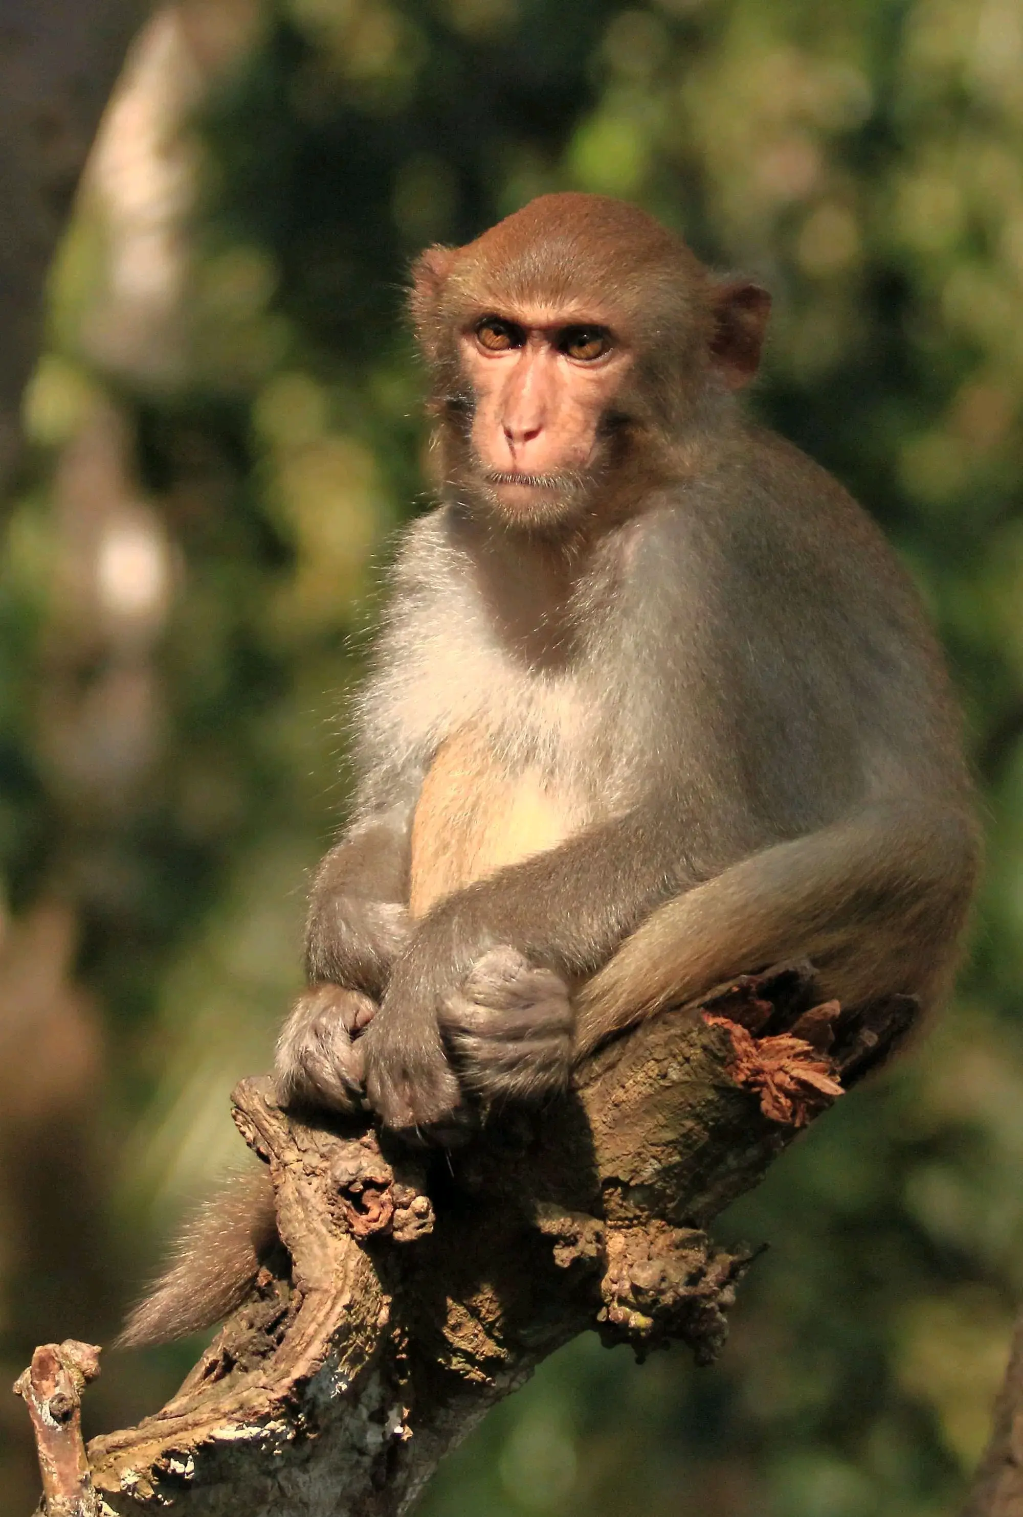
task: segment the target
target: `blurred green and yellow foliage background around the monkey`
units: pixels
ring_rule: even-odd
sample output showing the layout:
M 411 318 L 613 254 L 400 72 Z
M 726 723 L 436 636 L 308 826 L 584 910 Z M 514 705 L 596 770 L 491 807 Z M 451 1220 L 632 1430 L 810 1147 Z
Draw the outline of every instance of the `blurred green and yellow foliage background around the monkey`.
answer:
M 182 0 L 52 272 L 0 563 L 0 1384 L 106 1341 L 240 1157 L 299 985 L 345 710 L 427 505 L 411 256 L 625 196 L 776 296 L 754 408 L 944 637 L 990 862 L 955 1006 L 721 1233 L 729 1349 L 581 1340 L 423 1517 L 946 1517 L 1023 1300 L 1021 0 Z M 193 1346 L 108 1355 L 93 1429 Z M 0 1396 L 0 1512 L 36 1496 Z

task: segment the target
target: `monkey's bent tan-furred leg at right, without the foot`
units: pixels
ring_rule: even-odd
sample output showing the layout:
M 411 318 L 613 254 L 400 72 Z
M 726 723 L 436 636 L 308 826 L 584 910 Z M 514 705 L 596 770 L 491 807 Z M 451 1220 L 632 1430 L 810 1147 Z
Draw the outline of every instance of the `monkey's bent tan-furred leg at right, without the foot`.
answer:
M 578 992 L 577 1053 L 736 974 L 809 957 L 847 1006 L 929 1001 L 956 960 L 979 863 L 962 801 L 886 801 L 765 848 L 659 907 Z

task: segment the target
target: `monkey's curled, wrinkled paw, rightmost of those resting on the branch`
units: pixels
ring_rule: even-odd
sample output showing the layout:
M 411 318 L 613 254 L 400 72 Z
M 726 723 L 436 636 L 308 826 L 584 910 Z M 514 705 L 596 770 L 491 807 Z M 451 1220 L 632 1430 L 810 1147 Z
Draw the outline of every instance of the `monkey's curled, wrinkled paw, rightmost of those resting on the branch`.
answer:
M 575 1027 L 568 986 L 515 948 L 477 959 L 442 1025 L 463 1083 L 484 1100 L 528 1100 L 568 1085 Z

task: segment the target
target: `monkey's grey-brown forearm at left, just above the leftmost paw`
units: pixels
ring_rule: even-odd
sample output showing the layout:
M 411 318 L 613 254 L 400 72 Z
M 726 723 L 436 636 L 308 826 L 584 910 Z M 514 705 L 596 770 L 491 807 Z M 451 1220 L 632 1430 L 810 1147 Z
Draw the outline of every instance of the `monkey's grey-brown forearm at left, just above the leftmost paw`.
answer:
M 360 822 L 326 854 L 310 892 L 305 968 L 379 997 L 408 941 L 410 807 Z

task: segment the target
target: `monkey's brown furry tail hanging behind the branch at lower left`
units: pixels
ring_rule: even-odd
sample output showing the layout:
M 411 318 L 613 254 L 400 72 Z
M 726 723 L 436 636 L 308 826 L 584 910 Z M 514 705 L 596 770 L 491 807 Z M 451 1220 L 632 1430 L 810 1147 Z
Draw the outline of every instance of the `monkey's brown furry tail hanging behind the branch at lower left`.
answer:
M 278 1242 L 266 1165 L 246 1170 L 197 1209 L 175 1244 L 170 1268 L 134 1308 L 118 1349 L 170 1343 L 212 1327 L 240 1306 Z

